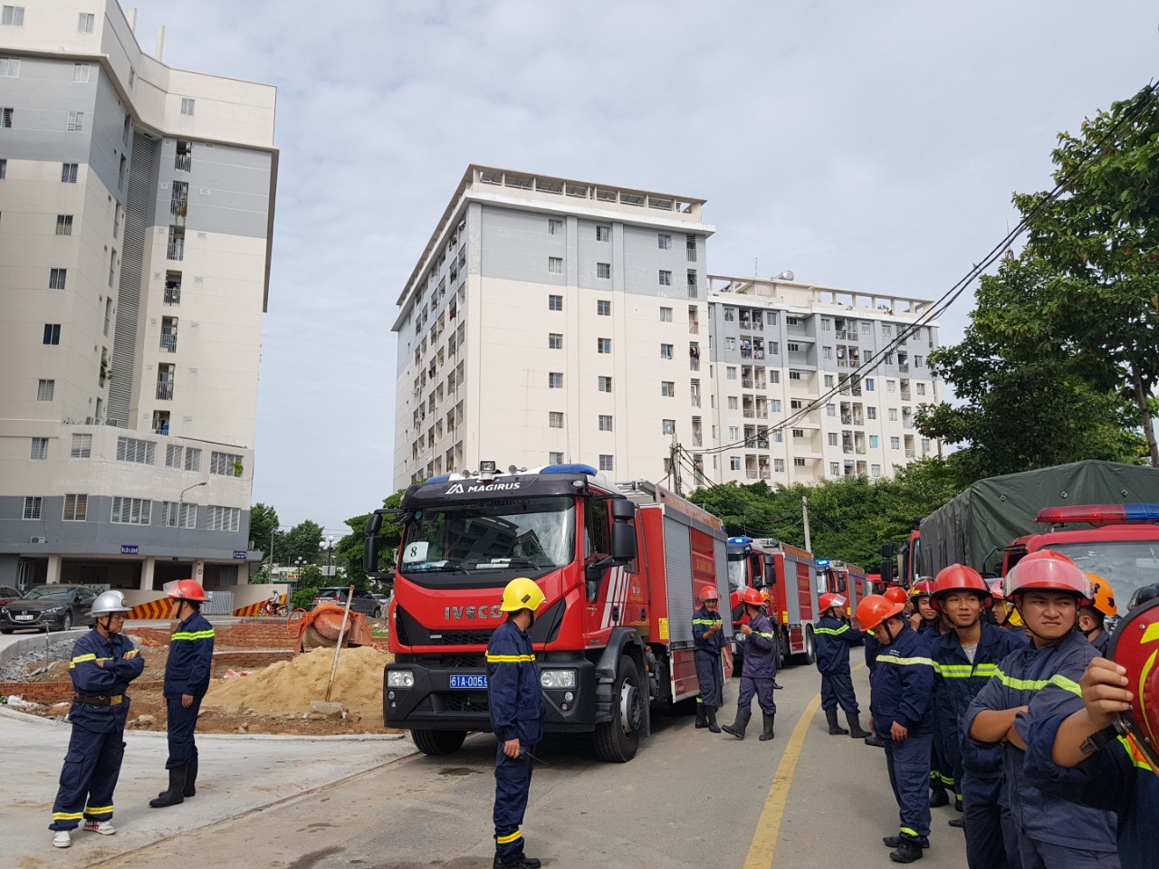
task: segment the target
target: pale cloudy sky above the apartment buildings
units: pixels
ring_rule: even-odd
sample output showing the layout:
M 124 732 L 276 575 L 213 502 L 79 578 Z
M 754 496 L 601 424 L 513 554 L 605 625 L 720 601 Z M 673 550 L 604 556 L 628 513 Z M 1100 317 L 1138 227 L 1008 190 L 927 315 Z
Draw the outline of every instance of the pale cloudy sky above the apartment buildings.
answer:
M 706 199 L 710 275 L 936 299 L 1159 75 L 1143 0 L 134 6 L 169 66 L 278 88 L 253 498 L 336 535 L 393 491 L 395 300 L 469 163 Z

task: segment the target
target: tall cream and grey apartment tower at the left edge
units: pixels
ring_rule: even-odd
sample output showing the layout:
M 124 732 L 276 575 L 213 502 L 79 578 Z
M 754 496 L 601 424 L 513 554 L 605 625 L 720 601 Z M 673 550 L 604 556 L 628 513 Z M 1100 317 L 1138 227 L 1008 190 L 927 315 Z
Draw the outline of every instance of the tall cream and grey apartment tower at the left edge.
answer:
M 246 583 L 275 88 L 115 0 L 5 5 L 0 82 L 0 583 Z

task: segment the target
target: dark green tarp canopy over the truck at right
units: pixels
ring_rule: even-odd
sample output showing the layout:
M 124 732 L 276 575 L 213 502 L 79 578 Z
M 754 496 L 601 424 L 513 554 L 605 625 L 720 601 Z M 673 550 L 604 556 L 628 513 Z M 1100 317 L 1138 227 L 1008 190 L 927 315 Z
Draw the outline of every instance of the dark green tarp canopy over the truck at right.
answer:
M 930 576 L 954 563 L 996 569 L 1000 558 L 989 557 L 996 547 L 1047 530 L 1034 521 L 1043 507 L 1136 503 L 1159 503 L 1159 470 L 1088 460 L 979 480 L 921 520 L 918 569 Z

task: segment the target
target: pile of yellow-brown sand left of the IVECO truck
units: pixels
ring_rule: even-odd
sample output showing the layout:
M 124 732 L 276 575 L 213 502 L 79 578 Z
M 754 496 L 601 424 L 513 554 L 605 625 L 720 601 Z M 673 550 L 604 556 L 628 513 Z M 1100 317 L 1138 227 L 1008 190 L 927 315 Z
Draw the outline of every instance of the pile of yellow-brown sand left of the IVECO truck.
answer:
M 371 647 L 343 649 L 330 700 L 363 720 L 382 720 L 382 669 L 387 652 Z M 214 679 L 203 706 L 253 709 L 263 715 L 301 716 L 313 700 L 326 699 L 334 649 L 314 649 L 235 679 Z

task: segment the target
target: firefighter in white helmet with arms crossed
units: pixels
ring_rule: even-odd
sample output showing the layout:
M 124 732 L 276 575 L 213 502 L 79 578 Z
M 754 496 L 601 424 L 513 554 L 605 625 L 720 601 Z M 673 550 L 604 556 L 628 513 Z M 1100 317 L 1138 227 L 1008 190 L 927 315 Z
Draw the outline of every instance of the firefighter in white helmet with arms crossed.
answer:
M 89 615 L 93 629 L 73 647 L 68 664 L 73 681 L 73 704 L 68 710 L 72 736 L 60 771 L 60 789 L 52 804 L 52 845 L 72 845 L 72 830 L 83 819 L 85 830 L 102 835 L 116 833 L 112 791 L 121 776 L 125 754 L 125 721 L 129 718 L 129 684 L 141 674 L 145 660 L 129 637 L 124 596 L 107 591 L 96 597 Z

